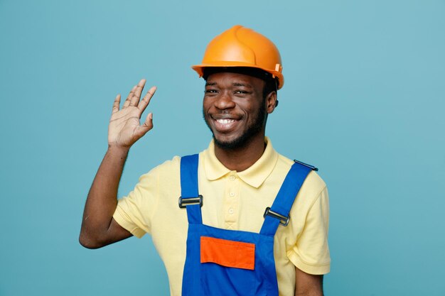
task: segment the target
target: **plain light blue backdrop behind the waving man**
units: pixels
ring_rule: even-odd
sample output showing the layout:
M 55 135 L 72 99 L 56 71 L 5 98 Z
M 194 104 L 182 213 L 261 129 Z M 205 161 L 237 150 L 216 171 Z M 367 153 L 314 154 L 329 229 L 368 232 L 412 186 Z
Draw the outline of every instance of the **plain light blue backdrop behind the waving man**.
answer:
M 0 295 L 168 295 L 148 236 L 80 246 L 83 205 L 114 97 L 142 77 L 155 127 L 119 194 L 207 147 L 190 66 L 238 23 L 282 53 L 274 147 L 328 183 L 326 295 L 445 295 L 443 0 L 0 0 Z

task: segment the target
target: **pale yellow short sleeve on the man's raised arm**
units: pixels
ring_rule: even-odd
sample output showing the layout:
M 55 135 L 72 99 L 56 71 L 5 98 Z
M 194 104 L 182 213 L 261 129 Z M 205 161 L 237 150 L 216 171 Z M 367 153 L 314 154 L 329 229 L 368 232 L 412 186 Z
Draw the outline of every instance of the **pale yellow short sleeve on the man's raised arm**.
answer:
M 158 181 L 155 168 L 142 175 L 134 190 L 117 202 L 114 220 L 138 238 L 151 231 L 151 216 L 159 192 Z

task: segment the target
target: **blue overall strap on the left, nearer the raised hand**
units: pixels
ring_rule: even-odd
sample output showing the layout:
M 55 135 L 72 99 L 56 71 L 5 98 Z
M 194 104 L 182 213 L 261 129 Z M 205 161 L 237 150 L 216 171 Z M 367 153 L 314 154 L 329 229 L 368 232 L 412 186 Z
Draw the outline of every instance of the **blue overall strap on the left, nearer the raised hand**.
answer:
M 181 158 L 179 207 L 186 207 L 189 224 L 203 224 L 200 208 L 203 205 L 203 197 L 198 194 L 198 160 L 198 154 Z

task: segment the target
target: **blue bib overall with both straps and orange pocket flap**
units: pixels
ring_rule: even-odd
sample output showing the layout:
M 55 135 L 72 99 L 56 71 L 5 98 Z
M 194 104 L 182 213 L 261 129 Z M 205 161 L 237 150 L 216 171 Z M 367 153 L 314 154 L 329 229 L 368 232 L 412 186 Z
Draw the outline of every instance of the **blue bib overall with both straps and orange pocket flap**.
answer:
M 278 296 L 277 273 L 274 261 L 274 235 L 280 224 L 287 225 L 289 211 L 306 176 L 316 170 L 310 165 L 295 162 L 289 170 L 272 207 L 264 213 L 259 234 L 248 231 L 218 229 L 203 224 L 200 207 L 203 197 L 198 193 L 198 154 L 181 158 L 180 207 L 186 207 L 188 217 L 187 256 L 183 271 L 183 296 Z M 215 244 L 208 245 L 207 241 Z M 218 247 L 218 243 L 222 243 Z M 230 258 L 212 253 L 232 250 Z M 210 247 L 208 247 L 210 246 Z M 238 250 L 238 248 L 240 248 Z M 211 251 L 211 250 L 210 250 Z M 215 252 L 213 252 L 215 253 Z M 248 254 L 248 257 L 237 256 Z M 250 256 L 249 254 L 252 254 Z M 223 255 L 223 257 L 227 255 Z M 205 257 L 205 258 L 203 258 Z

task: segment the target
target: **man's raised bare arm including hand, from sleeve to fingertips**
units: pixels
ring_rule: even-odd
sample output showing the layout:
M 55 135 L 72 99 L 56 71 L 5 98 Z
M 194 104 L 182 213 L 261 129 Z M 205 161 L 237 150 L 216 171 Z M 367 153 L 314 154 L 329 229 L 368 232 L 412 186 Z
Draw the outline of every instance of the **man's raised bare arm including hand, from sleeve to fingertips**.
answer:
M 124 170 L 129 148 L 153 128 L 153 114 L 149 113 L 144 124 L 139 119 L 156 87 L 151 87 L 144 99 L 141 92 L 145 80 L 139 81 L 119 109 L 121 95 L 114 99 L 112 116 L 108 125 L 109 147 L 92 182 L 83 212 L 79 241 L 85 248 L 100 248 L 109 243 L 127 239 L 132 234 L 113 219 L 117 207 L 117 189 Z

